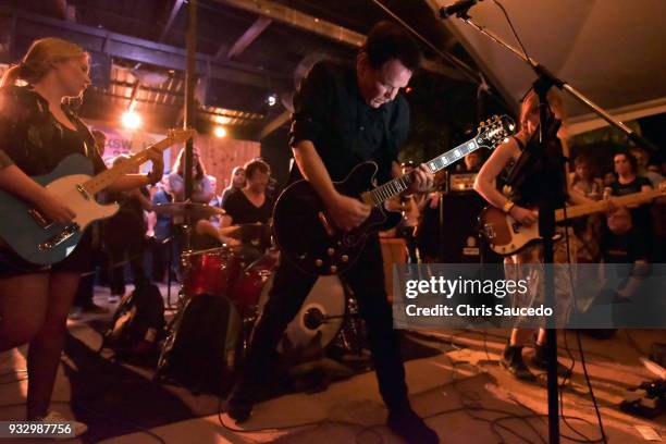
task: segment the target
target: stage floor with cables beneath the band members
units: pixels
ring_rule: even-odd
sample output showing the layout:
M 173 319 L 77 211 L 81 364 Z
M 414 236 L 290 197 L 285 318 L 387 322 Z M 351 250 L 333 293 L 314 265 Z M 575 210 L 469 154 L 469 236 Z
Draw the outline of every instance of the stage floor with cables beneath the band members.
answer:
M 164 286 L 161 289 L 165 294 Z M 106 288 L 96 288 L 96 303 L 113 310 L 115 305 L 106 296 Z M 400 442 L 384 425 L 386 411 L 373 372 L 357 373 L 317 393 L 292 393 L 263 402 L 249 421 L 237 425 L 223 412 L 224 403 L 218 415 L 217 396 L 155 382 L 150 368 L 113 361 L 109 351 L 98 354 L 99 332 L 111 316 L 112 311 L 84 314 L 69 323 L 53 409 L 89 424 L 81 442 Z M 540 374 L 539 383 L 521 383 L 498 367 L 506 334 L 503 330 L 405 332 L 412 406 L 428 418 L 443 443 L 547 442 L 545 374 Z M 560 333 L 559 355 L 569 365 L 564 340 Z M 576 431 L 560 421 L 562 442 L 574 442 L 568 436 L 584 440 L 583 435 L 599 440 L 576 333 L 567 333 L 567 343 L 576 363 L 572 380 L 563 390 L 564 415 Z M 628 387 L 655 378 L 639 362 L 653 343 L 666 343 L 666 330 L 620 330 L 603 341 L 582 335 L 608 442 L 644 442 L 641 427 L 666 436 L 666 415 L 649 420 L 618 408 Z M 528 347 L 525 354 L 529 362 L 533 350 Z M 25 359 L 26 347 L 0 355 L 0 420 L 23 418 Z

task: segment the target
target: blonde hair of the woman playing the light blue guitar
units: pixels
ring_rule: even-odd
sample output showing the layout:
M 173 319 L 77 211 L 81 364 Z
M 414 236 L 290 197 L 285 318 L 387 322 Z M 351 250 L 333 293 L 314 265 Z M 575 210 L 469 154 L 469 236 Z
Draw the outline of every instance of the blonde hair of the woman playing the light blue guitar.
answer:
M 0 87 L 14 85 L 21 79 L 28 85 L 38 83 L 53 66 L 53 63 L 76 58 L 89 58 L 78 45 L 57 37 L 46 37 L 33 41 L 21 63 L 7 70 Z

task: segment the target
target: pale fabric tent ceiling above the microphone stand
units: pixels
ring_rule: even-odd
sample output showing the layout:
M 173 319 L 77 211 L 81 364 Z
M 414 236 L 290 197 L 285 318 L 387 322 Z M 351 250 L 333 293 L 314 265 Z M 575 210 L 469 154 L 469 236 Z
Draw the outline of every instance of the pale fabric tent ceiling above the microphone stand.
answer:
M 453 3 L 436 0 L 440 7 Z M 612 113 L 644 116 L 666 108 L 666 1 L 663 0 L 501 0 L 530 57 Z M 432 4 L 432 2 L 431 2 Z M 469 13 L 511 46 L 518 47 L 506 18 L 492 0 Z M 446 27 L 460 39 L 505 99 L 518 106 L 534 79 L 515 54 L 459 18 Z M 580 128 L 596 120 L 564 94 L 567 112 Z M 585 123 L 587 122 L 587 123 Z

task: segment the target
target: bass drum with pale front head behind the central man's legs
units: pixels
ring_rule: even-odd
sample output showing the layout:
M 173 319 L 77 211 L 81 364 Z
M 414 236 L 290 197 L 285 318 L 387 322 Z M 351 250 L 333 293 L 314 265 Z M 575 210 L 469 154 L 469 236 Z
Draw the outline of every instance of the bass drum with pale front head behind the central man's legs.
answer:
M 268 303 L 269 292 L 273 286 L 273 275 L 267 281 L 259 295 L 258 312 L 263 311 Z M 324 348 L 340 332 L 345 319 L 346 295 L 336 275 L 319 276 L 308 294 L 303 307 L 289 322 L 284 332 L 292 349 L 306 348 L 318 333 L 321 334 L 320 345 Z M 261 317 L 261 314 L 259 314 Z M 282 351 L 282 342 L 279 350 Z

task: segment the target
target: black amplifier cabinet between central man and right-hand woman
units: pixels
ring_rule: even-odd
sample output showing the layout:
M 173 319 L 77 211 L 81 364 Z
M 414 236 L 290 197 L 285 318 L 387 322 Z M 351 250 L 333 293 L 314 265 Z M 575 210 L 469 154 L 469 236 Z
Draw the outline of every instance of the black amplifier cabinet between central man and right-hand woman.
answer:
M 440 262 L 480 263 L 483 260 L 485 263 L 502 263 L 503 258 L 479 238 L 478 218 L 486 205 L 476 192 L 444 195 L 444 217 L 440 226 L 440 242 L 443 243 Z

